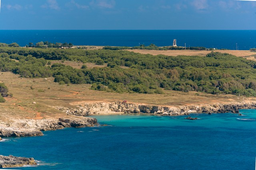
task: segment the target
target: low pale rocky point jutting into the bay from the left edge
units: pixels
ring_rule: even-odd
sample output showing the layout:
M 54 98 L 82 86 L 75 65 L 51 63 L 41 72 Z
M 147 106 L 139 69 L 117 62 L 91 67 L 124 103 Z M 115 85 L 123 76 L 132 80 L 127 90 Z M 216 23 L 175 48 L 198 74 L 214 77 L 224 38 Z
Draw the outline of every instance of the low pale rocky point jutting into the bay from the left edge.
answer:
M 72 117 L 59 119 L 18 119 L 9 125 L 0 125 L 0 137 L 41 136 L 42 131 L 63 129 L 64 127 L 86 127 L 98 125 L 92 117 Z

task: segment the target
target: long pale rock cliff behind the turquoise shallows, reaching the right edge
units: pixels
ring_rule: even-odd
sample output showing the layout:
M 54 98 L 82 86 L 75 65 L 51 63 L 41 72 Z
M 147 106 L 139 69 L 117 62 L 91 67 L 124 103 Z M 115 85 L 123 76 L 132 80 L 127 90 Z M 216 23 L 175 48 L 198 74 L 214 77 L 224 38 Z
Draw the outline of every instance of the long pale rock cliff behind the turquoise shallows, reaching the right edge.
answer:
M 159 115 L 186 115 L 189 113 L 238 113 L 239 109 L 256 108 L 255 103 L 234 103 L 197 106 L 151 106 L 126 102 L 100 102 L 77 106 L 77 109 L 55 107 L 71 115 L 88 116 L 93 114 L 147 113 Z

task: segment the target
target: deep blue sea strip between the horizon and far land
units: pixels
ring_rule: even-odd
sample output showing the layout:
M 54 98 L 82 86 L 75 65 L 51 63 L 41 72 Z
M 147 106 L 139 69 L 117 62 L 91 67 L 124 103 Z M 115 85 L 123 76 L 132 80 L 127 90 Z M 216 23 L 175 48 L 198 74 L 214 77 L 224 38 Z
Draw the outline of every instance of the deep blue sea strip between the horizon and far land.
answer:
M 0 30 L 0 42 L 21 46 L 49 41 L 128 47 L 153 43 L 162 47 L 172 45 L 174 39 L 178 46 L 249 50 L 256 47 L 256 30 Z

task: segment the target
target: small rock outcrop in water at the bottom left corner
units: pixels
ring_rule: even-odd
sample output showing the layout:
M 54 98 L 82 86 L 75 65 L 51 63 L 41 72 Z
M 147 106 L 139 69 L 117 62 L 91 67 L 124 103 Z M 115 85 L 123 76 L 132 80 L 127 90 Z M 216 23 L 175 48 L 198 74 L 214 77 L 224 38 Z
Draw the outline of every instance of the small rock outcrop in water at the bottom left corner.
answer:
M 34 158 L 0 155 L 0 168 L 11 168 L 24 165 L 36 165 Z

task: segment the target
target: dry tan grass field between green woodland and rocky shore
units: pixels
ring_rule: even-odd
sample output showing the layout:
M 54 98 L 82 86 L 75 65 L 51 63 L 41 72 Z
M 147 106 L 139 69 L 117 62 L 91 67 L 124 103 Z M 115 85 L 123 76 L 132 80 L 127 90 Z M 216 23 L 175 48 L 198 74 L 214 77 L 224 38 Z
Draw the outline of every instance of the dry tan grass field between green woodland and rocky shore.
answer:
M 52 77 L 20 78 L 11 72 L 0 72 L 0 81 L 9 88 L 12 98 L 5 98 L 0 103 L 0 121 L 8 121 L 10 117 L 44 119 L 60 117 L 64 112 L 50 106 L 74 108 L 85 102 L 103 102 L 127 100 L 128 102 L 180 106 L 190 104 L 215 104 L 242 101 L 256 101 L 256 98 L 243 98 L 234 95 L 211 95 L 200 92 L 165 91 L 165 94 L 118 94 L 90 90 L 90 84 L 60 85 L 53 82 Z M 36 102 L 36 104 L 32 104 Z M 0 122 L 1 123 L 1 122 Z

